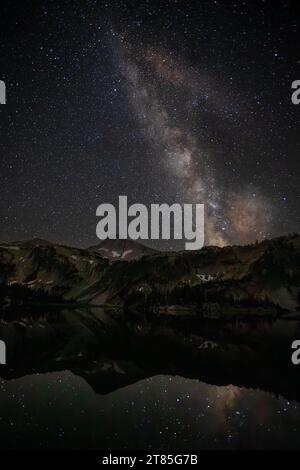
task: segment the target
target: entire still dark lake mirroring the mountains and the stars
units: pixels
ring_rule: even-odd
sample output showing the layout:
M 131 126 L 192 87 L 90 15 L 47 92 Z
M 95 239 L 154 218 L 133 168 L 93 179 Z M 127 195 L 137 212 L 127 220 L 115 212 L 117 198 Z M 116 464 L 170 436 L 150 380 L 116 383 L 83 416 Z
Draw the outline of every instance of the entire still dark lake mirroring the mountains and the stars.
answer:
M 26 312 L 0 337 L 0 448 L 300 449 L 298 320 Z

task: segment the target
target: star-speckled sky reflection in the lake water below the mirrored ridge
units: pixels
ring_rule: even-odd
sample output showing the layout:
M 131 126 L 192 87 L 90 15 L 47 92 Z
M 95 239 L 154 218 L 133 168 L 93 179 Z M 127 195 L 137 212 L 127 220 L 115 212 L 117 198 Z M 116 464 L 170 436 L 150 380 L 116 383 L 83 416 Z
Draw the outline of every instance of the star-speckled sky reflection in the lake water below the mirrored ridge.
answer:
M 1 448 L 300 448 L 295 401 L 155 376 L 97 395 L 71 372 L 1 381 Z

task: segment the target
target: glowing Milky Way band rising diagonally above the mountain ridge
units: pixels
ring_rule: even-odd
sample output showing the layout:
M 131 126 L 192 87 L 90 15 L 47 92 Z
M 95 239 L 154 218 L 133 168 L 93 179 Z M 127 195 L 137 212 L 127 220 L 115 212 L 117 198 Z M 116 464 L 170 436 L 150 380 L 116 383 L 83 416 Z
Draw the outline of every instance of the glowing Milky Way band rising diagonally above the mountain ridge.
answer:
M 239 113 L 235 97 L 229 92 L 222 94 L 209 76 L 202 76 L 166 52 L 147 50 L 137 54 L 124 38 L 115 50 L 136 118 L 159 161 L 175 178 L 180 199 L 205 204 L 206 243 L 223 246 L 266 236 L 271 223 L 268 202 L 258 191 L 231 189 L 228 192 L 216 170 L 214 147 L 203 139 L 200 141 L 189 125 L 190 102 L 203 103 L 205 113 L 200 113 L 200 120 L 204 120 L 207 113 L 228 120 L 232 114 L 238 116 Z M 172 116 L 168 101 L 177 101 L 178 107 L 184 109 L 181 119 Z M 203 125 L 206 125 L 204 121 Z M 268 220 L 265 218 L 267 209 Z

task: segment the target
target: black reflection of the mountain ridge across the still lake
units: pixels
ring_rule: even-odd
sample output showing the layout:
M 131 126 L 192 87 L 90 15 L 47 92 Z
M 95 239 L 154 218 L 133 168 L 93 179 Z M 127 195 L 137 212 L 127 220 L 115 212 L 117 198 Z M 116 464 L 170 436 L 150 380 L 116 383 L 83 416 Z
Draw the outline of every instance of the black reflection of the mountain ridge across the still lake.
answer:
M 42 312 L 41 312 L 42 313 Z M 3 378 L 71 370 L 101 394 L 158 374 L 260 388 L 300 401 L 291 342 L 300 323 L 147 316 L 103 309 L 67 310 L 2 320 L 7 344 Z

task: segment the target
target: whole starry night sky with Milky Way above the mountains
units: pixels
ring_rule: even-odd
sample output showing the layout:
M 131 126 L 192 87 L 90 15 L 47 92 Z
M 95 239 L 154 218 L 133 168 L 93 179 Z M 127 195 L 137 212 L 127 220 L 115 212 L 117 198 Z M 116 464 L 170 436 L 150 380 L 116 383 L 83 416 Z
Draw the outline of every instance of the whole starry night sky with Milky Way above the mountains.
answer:
M 207 244 L 299 232 L 296 2 L 19 3 L 0 7 L 1 240 L 95 244 L 119 195 L 204 203 Z

